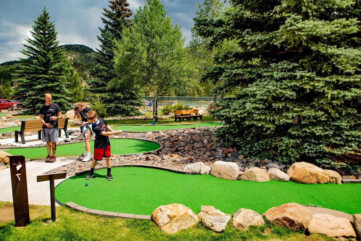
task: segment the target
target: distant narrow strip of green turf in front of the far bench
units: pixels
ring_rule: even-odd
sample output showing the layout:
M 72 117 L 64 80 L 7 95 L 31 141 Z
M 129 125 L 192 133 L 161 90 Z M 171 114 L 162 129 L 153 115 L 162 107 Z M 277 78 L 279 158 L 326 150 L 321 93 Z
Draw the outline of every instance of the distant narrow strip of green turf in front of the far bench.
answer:
M 220 122 L 202 122 L 197 123 L 193 125 L 146 125 L 138 128 L 139 125 L 117 125 L 112 126 L 114 130 L 126 130 L 130 128 L 134 128 L 132 130 L 129 130 L 130 132 L 152 132 L 152 131 L 158 131 L 158 130 L 170 130 L 170 129 L 181 129 L 181 128 L 195 128 L 200 126 L 219 126 L 223 125 L 223 123 Z

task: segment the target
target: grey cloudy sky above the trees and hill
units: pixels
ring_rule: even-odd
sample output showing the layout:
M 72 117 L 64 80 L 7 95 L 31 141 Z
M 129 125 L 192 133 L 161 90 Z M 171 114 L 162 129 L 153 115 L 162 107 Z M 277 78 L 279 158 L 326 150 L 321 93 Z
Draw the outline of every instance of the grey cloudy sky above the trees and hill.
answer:
M 186 44 L 191 39 L 191 28 L 195 17 L 196 3 L 202 0 L 161 0 L 172 23 L 181 26 Z M 129 8 L 135 14 L 144 0 L 128 0 Z M 58 40 L 62 44 L 84 44 L 95 50 L 98 47 L 98 27 L 103 8 L 108 0 L 0 0 L 0 63 L 24 57 L 19 50 L 30 37 L 31 26 L 44 6 L 51 21 L 55 23 Z

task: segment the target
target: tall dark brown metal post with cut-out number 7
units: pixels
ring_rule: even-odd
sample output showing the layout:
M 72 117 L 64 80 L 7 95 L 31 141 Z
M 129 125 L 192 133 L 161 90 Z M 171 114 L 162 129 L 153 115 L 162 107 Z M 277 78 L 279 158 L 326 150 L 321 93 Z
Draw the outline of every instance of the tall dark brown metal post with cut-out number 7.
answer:
M 29 199 L 27 196 L 26 168 L 24 156 L 8 156 L 13 189 L 15 226 L 30 224 Z

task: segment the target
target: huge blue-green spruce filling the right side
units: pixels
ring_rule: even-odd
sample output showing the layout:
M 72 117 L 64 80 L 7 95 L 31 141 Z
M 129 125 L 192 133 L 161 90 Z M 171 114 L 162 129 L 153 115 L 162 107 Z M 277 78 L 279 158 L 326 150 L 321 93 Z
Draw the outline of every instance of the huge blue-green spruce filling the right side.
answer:
M 232 0 L 229 20 L 196 18 L 211 44 L 239 42 L 206 78 L 233 91 L 214 116 L 217 137 L 249 156 L 359 168 L 360 5 L 344 0 Z

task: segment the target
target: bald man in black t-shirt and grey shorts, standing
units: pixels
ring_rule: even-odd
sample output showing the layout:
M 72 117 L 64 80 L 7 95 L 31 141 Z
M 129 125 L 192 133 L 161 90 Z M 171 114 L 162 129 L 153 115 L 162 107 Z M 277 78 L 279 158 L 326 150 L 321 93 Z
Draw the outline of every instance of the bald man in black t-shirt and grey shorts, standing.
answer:
M 48 156 L 45 162 L 55 162 L 56 142 L 58 141 L 58 119 L 61 119 L 60 107 L 52 102 L 51 94 L 46 93 L 44 96 L 45 104 L 40 106 L 40 121 L 43 123 L 42 138 L 46 142 Z M 53 155 L 50 156 L 50 143 Z

